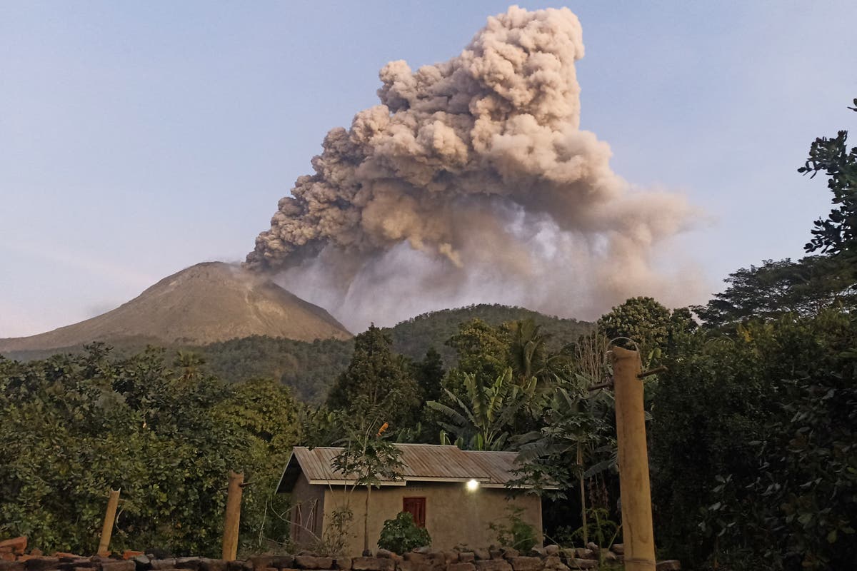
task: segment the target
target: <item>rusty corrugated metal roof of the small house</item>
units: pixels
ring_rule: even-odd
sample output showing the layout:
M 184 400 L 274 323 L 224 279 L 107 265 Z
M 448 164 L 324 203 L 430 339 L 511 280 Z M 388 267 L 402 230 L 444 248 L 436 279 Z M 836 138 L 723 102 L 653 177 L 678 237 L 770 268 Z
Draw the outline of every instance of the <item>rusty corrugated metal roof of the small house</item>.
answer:
M 395 444 L 402 451 L 402 479 L 384 479 L 381 485 L 406 485 L 407 482 L 466 482 L 476 479 L 485 487 L 501 488 L 515 476 L 517 452 L 462 450 L 440 444 Z M 331 466 L 341 448 L 309 449 L 296 446 L 285 467 L 277 491 L 291 491 L 302 473 L 313 485 L 353 484 L 354 479 Z

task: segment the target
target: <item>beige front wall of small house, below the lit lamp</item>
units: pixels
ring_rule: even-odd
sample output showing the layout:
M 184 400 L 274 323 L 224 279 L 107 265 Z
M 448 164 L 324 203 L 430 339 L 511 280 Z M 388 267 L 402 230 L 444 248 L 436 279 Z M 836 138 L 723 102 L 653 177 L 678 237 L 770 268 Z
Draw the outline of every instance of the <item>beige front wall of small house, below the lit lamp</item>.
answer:
M 321 487 L 321 486 L 317 486 Z M 509 506 L 524 509 L 521 517 L 536 528 L 542 538 L 542 503 L 534 494 L 521 494 L 509 499 L 503 488 L 480 487 L 468 491 L 464 482 L 409 482 L 405 486 L 382 486 L 373 489 L 369 505 L 369 549 L 377 549 L 378 538 L 384 520 L 391 520 L 402 511 L 405 497 L 426 498 L 426 529 L 432 538 L 432 547 L 449 550 L 458 544 L 472 547 L 487 547 L 496 544 L 494 532 L 488 524 L 506 519 Z M 351 526 L 346 553 L 363 551 L 363 516 L 365 514 L 366 491 L 358 488 L 351 496 L 342 486 L 325 490 L 325 522 L 328 514 L 343 505 L 348 498 L 354 521 Z

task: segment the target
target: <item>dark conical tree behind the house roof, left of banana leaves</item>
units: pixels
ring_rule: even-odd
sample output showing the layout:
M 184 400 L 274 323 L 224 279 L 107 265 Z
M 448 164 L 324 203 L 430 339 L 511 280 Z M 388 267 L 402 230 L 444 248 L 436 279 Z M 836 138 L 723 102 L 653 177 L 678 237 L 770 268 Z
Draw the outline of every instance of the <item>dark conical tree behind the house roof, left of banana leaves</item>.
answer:
M 397 428 L 414 419 L 419 388 L 411 367 L 393 353 L 392 345 L 375 324 L 358 335 L 351 363 L 327 397 L 328 407 Z

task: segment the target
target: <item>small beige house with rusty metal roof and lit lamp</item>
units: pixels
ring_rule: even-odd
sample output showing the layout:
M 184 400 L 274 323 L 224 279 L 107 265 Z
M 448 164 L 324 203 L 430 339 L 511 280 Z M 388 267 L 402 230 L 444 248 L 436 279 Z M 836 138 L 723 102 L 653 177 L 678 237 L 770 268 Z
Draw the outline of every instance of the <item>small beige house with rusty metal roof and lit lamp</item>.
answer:
M 413 515 L 418 526 L 428 529 L 434 549 L 448 550 L 458 544 L 487 547 L 497 542 L 488 529 L 504 523 L 510 506 L 521 509 L 521 518 L 542 537 L 542 501 L 532 493 L 509 497 L 506 482 L 514 479 L 516 452 L 461 450 L 456 446 L 396 444 L 401 450 L 401 478 L 384 480 L 369 495 L 369 544 L 381 536 L 385 520 L 399 512 Z M 345 552 L 363 551 L 366 489 L 332 467 L 341 448 L 296 447 L 277 487 L 291 493 L 291 539 L 298 547 L 310 547 L 321 537 L 331 514 L 348 505 L 353 513 Z

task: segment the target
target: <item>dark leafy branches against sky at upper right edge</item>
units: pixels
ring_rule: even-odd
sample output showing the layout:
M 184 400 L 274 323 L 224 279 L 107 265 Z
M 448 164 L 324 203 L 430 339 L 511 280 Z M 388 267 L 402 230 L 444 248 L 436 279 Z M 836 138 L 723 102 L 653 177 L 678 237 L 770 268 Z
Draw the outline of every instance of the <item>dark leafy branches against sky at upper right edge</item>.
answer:
M 857 99 L 848 109 L 857 111 Z M 847 140 L 848 131 L 844 130 L 832 139 L 819 137 L 810 146 L 806 164 L 798 169 L 804 175 L 812 173 L 811 178 L 824 172 L 836 205 L 826 220 L 815 222 L 806 252 L 848 253 L 848 258 L 854 259 L 857 251 L 857 147 L 849 151 Z

